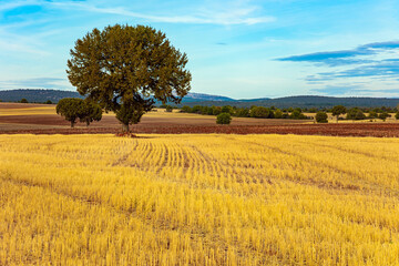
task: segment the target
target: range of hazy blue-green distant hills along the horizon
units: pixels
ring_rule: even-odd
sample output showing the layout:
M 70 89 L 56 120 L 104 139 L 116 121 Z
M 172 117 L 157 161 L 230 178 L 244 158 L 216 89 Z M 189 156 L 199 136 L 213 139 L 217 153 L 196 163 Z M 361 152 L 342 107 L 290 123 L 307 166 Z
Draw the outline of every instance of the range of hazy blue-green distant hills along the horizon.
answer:
M 4 102 L 18 102 L 22 98 L 29 102 L 45 102 L 48 100 L 57 103 L 63 98 L 83 98 L 74 91 L 61 90 L 8 90 L 0 91 L 0 100 Z M 347 108 L 377 108 L 389 106 L 395 108 L 399 104 L 399 99 L 391 98 L 334 98 L 334 96 L 286 96 L 276 99 L 245 99 L 235 100 L 226 96 L 211 95 L 204 93 L 188 93 L 183 98 L 182 105 L 232 105 L 237 108 L 258 106 L 276 106 L 276 108 L 331 108 L 335 105 L 345 105 Z

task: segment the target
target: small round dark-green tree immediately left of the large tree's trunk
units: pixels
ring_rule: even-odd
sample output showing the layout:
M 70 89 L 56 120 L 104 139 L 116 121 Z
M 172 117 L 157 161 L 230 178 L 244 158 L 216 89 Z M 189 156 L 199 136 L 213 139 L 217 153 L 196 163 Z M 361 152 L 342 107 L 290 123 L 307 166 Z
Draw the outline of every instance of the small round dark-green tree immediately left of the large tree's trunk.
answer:
M 58 114 L 71 122 L 71 127 L 75 125 L 78 119 L 80 122 L 85 122 L 86 126 L 102 119 L 102 110 L 98 104 L 78 98 L 61 99 L 55 110 Z

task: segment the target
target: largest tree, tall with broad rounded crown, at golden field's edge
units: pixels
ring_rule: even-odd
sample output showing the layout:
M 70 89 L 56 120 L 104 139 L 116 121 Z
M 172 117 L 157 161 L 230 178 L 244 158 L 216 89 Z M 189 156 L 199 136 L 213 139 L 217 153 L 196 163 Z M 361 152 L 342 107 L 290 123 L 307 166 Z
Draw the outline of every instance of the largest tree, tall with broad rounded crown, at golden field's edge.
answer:
M 178 104 L 191 89 L 186 54 L 151 27 L 94 29 L 75 42 L 71 57 L 71 84 L 106 112 L 115 112 L 123 131 L 139 123 L 155 100 Z

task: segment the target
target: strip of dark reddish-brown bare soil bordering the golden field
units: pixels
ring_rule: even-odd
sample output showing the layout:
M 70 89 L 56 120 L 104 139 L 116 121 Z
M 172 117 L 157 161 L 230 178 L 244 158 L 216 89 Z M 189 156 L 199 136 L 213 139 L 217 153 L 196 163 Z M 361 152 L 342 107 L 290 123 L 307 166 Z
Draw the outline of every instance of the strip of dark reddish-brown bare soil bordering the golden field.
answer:
M 0 131 L 6 134 L 103 134 L 117 133 L 119 127 L 76 127 L 76 129 L 19 129 Z M 286 125 L 144 125 L 132 126 L 133 133 L 184 134 L 298 134 L 331 136 L 378 136 L 399 137 L 399 124 L 356 123 L 356 124 L 286 124 Z

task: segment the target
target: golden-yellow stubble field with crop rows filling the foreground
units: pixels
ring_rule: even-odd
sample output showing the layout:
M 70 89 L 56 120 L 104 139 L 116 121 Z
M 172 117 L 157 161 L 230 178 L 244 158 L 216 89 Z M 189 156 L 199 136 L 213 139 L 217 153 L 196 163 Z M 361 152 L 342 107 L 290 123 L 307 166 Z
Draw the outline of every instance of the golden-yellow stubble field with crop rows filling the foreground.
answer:
M 399 140 L 0 135 L 0 265 L 398 265 Z

